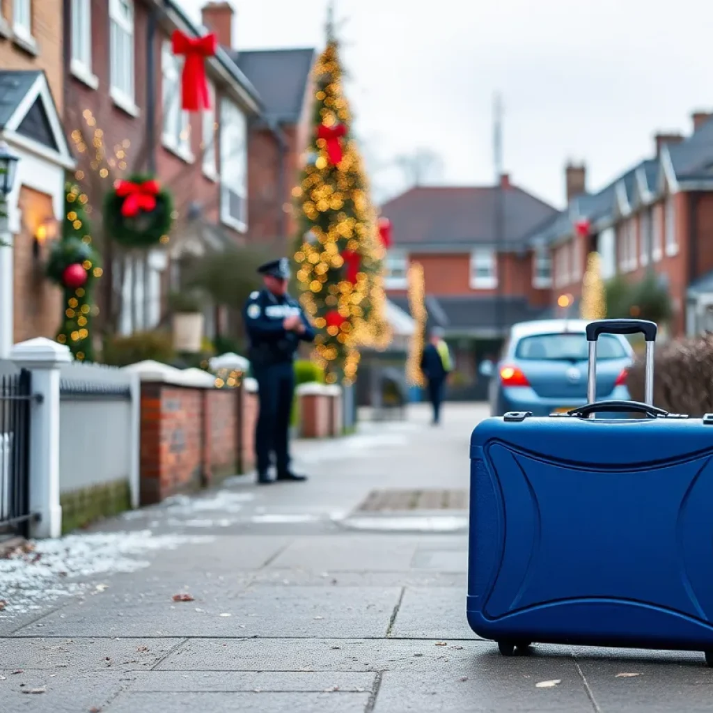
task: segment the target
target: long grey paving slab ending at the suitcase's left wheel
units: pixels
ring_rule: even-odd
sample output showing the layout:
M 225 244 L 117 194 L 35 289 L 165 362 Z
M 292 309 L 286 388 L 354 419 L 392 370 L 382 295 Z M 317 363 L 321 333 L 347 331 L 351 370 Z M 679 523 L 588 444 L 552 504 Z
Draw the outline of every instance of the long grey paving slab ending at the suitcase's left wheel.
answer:
M 478 652 L 497 651 L 481 641 L 404 639 L 188 640 L 160 662 L 176 671 L 391 671 L 465 676 Z

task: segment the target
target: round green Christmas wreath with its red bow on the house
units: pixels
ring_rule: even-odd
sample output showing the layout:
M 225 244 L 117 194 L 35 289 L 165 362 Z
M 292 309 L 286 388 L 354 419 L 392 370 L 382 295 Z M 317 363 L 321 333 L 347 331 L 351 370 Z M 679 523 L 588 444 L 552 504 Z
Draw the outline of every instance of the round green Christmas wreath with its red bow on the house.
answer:
M 168 234 L 173 198 L 150 175 L 118 180 L 104 198 L 104 227 L 124 247 L 150 247 Z

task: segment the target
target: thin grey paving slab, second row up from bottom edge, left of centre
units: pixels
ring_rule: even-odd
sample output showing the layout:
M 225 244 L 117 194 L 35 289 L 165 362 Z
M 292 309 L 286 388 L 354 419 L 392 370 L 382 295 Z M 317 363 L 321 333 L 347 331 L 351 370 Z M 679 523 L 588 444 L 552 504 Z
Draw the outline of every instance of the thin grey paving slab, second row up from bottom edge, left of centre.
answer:
M 150 671 L 135 674 L 127 690 L 144 692 L 356 692 L 371 691 L 375 673 L 271 671 Z

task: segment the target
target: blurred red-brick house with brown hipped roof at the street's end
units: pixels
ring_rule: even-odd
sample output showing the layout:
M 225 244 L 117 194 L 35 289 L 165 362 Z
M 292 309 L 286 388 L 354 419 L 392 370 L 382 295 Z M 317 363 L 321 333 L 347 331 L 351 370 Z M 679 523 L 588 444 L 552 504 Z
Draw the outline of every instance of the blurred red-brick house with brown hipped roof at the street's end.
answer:
M 423 265 L 429 321 L 453 345 L 469 397 L 483 395 L 477 364 L 498 350 L 506 327 L 537 316 L 550 302 L 550 253 L 531 250 L 528 237 L 557 211 L 508 175 L 500 188 L 416 187 L 381 208 L 393 229 L 389 299 L 408 309 L 409 264 Z

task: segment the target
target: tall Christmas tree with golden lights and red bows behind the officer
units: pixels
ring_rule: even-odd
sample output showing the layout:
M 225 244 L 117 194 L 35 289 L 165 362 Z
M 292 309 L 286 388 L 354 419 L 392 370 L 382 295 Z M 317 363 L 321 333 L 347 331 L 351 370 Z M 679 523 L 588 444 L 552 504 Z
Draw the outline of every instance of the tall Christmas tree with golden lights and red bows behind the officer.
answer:
M 297 279 L 304 309 L 317 327 L 315 356 L 327 381 L 352 381 L 361 347 L 383 347 L 381 243 L 376 211 L 342 86 L 337 42 L 314 67 L 314 133 L 297 202 Z

